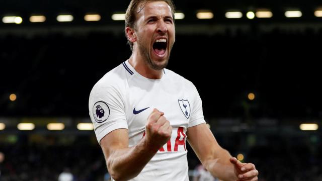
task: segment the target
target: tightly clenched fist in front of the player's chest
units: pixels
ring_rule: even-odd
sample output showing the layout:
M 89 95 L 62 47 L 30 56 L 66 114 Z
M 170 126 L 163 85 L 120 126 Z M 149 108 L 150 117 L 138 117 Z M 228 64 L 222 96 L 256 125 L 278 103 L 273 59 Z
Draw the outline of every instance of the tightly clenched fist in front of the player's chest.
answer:
M 158 150 L 167 143 L 172 134 L 172 126 L 164 117 L 165 113 L 153 109 L 145 125 L 145 139 L 151 149 Z

